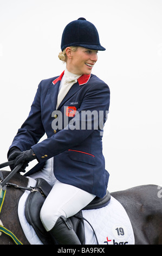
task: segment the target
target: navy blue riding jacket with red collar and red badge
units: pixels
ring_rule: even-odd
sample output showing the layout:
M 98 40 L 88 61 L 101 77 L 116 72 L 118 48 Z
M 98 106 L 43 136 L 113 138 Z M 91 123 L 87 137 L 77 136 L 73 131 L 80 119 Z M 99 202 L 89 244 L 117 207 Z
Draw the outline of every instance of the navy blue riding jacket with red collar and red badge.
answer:
M 26 175 L 54 157 L 56 179 L 103 197 L 109 173 L 102 155 L 102 123 L 109 108 L 109 88 L 95 75 L 82 75 L 55 111 L 63 73 L 40 82 L 29 116 L 10 148 L 32 148 L 36 154 L 38 164 Z M 39 142 L 44 133 L 47 139 Z

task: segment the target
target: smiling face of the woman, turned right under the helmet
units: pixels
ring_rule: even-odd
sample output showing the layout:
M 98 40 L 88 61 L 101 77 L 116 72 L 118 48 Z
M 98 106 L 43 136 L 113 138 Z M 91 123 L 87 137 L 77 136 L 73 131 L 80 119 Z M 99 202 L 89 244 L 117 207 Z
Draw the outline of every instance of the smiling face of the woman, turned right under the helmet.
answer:
M 77 75 L 89 75 L 98 60 L 97 50 L 90 50 L 80 46 L 77 47 L 76 51 L 72 51 L 70 47 L 67 47 L 66 54 L 68 71 Z

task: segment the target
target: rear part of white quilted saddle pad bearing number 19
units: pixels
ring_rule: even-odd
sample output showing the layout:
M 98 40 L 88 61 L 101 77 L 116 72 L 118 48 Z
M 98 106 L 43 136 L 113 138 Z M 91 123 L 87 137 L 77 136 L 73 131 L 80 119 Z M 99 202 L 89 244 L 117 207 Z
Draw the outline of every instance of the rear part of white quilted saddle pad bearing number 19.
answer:
M 95 230 L 99 245 L 134 245 L 132 224 L 123 206 L 111 196 L 107 206 L 83 210 L 82 215 Z M 94 232 L 84 221 L 86 245 L 96 245 Z

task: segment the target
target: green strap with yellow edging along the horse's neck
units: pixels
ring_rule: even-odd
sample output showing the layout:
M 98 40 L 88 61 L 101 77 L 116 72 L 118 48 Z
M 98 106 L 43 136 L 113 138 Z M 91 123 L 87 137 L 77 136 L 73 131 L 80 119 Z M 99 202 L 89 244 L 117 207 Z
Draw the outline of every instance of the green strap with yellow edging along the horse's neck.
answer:
M 4 203 L 5 193 L 6 193 L 6 190 L 3 190 L 2 188 L 0 188 L 0 214 L 1 214 L 3 203 Z M 0 224 L 0 231 L 9 235 L 12 238 L 12 240 L 14 240 L 16 245 L 22 245 L 22 242 L 18 240 L 17 237 L 12 232 L 7 228 L 3 227 L 3 224 L 2 225 L 1 224 Z

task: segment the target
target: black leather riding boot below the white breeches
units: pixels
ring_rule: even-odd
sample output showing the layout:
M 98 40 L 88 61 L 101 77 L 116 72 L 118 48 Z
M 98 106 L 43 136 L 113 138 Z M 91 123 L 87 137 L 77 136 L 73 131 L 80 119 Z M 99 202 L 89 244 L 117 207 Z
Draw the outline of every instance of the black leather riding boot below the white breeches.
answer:
M 54 227 L 48 232 L 59 245 L 81 245 L 73 228 L 63 216 L 58 218 Z

